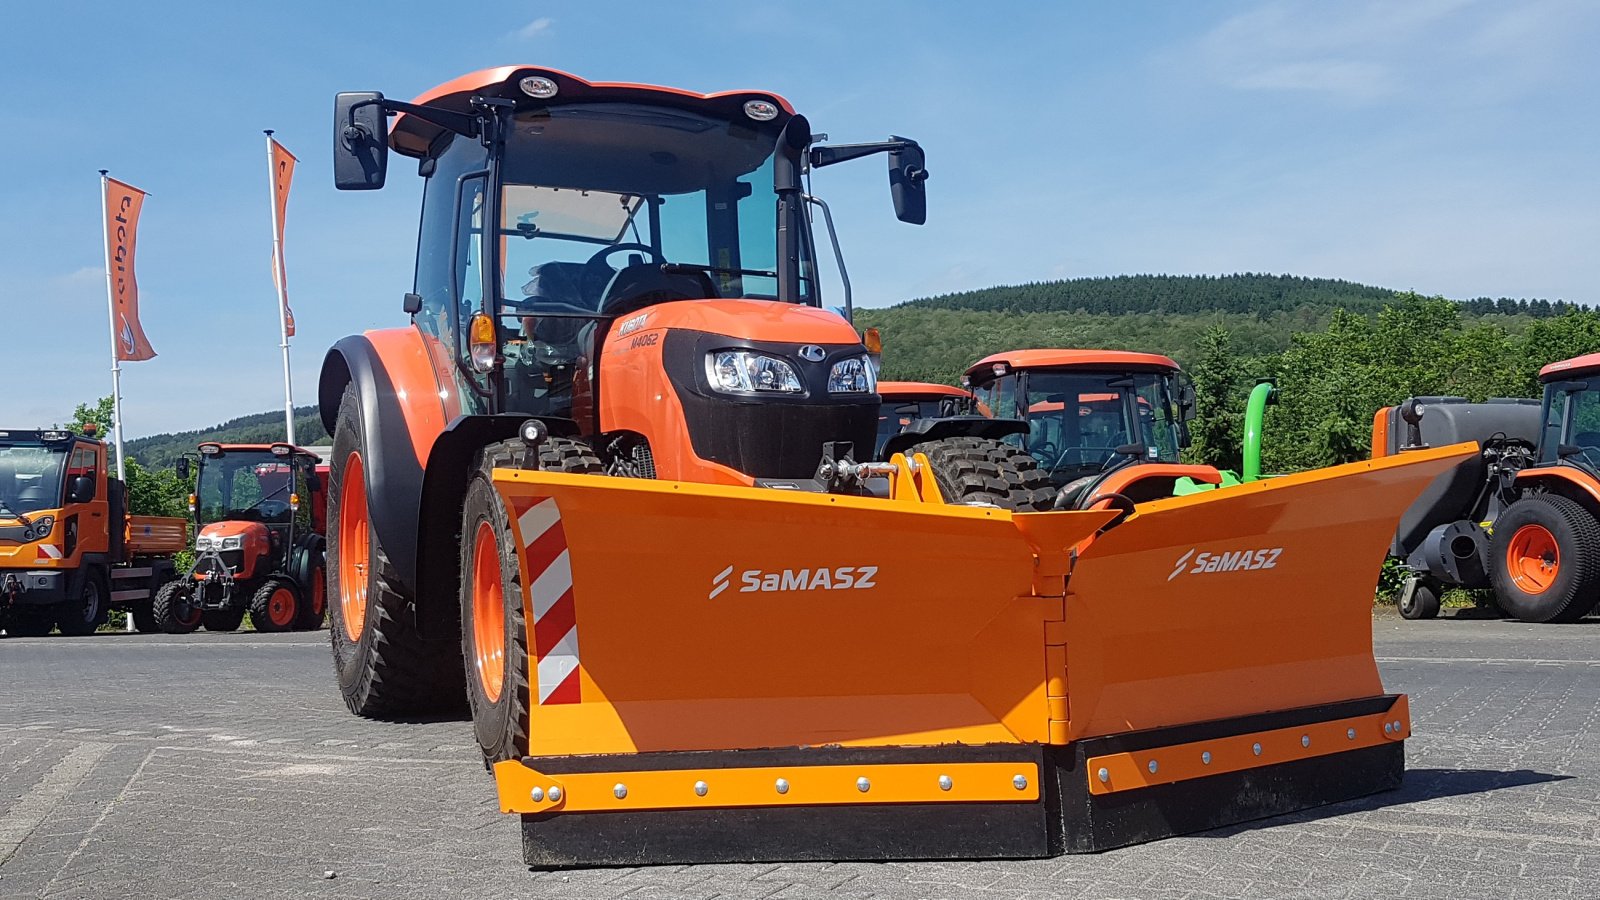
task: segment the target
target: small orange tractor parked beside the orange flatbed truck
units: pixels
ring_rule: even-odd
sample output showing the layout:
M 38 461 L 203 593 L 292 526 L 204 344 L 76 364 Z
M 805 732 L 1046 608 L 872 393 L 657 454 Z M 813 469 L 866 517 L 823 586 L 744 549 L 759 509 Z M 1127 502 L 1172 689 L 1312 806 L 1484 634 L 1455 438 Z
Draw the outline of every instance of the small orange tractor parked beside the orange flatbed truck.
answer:
M 155 596 L 168 634 L 322 628 L 325 493 L 317 456 L 288 444 L 202 444 L 195 460 L 195 562 Z M 190 458 L 178 460 L 187 479 Z

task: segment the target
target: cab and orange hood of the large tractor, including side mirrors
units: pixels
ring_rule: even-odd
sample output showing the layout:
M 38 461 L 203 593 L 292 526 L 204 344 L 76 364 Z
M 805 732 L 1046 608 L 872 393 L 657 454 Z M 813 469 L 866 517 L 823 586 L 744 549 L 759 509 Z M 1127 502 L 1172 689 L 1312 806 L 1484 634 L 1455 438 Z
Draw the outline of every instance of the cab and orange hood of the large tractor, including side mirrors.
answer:
M 920 224 L 915 141 L 821 146 L 771 93 L 517 66 L 414 102 L 339 94 L 336 133 L 339 187 L 381 187 L 389 149 L 427 179 L 406 311 L 445 421 L 538 416 L 595 436 L 613 471 L 746 484 L 808 477 L 826 442 L 870 447 L 875 372 L 822 303 L 811 210 L 826 207 L 803 175 L 888 154 L 896 215 Z M 848 319 L 848 287 L 842 299 Z M 682 434 L 682 418 L 709 434 L 717 416 L 782 431 L 792 447 L 661 439 Z

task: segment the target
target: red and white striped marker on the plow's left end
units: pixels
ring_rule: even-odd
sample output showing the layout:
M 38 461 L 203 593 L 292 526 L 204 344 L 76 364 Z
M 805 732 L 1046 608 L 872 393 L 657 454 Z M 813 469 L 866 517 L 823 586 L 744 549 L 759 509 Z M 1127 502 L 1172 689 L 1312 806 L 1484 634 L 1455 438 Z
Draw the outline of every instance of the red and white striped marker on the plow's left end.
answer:
M 528 560 L 528 605 L 533 609 L 534 689 L 539 705 L 578 703 L 578 604 L 566 556 L 562 509 L 554 498 L 517 500 L 517 532 Z

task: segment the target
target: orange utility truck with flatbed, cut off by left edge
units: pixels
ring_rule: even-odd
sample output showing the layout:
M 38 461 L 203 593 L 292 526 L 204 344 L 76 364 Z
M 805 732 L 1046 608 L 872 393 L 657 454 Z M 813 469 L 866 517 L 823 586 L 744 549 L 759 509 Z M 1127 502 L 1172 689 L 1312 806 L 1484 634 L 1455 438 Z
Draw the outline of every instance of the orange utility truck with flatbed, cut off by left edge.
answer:
M 90 634 L 112 609 L 155 631 L 150 597 L 174 577 L 184 520 L 128 516 L 106 460 L 70 431 L 0 431 L 0 631 Z

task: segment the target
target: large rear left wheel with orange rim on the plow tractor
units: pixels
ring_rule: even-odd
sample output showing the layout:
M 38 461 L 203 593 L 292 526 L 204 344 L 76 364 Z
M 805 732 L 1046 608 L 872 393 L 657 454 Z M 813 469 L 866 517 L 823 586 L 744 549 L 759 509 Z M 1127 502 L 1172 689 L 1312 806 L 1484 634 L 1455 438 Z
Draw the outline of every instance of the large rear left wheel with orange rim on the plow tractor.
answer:
M 366 717 L 456 713 L 466 698 L 461 645 L 416 631 L 411 599 L 368 517 L 366 452 L 358 394 L 346 384 L 326 479 L 328 641 L 339 693 Z

